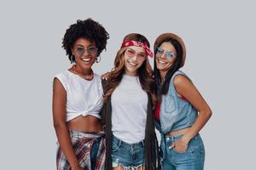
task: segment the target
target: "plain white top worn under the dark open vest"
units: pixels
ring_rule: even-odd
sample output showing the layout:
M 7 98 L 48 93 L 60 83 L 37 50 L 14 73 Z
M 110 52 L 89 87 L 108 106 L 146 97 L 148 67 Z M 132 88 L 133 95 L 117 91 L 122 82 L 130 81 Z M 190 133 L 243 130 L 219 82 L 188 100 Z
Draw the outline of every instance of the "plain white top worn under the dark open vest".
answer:
M 111 96 L 112 132 L 129 144 L 145 138 L 148 95 L 138 77 L 124 75 Z

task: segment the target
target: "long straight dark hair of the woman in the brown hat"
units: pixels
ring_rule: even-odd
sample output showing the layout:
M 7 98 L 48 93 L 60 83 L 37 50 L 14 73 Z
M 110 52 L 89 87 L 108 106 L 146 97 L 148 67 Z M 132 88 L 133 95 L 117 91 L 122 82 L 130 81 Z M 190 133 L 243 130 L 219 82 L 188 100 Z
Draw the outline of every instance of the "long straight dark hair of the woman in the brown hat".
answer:
M 180 65 L 182 64 L 182 56 L 183 56 L 183 48 L 180 45 L 180 43 L 177 42 L 177 40 L 172 39 L 172 38 L 167 38 L 163 42 L 171 42 L 172 43 L 173 47 L 176 49 L 176 52 L 177 52 L 177 59 L 174 61 L 175 62 L 174 65 L 172 65 L 172 67 L 169 69 L 169 71 L 167 71 L 165 81 L 163 82 L 163 85 L 161 86 L 160 72 L 156 67 L 155 58 L 154 58 L 154 78 L 156 80 L 158 87 L 160 87 L 157 94 L 167 94 L 172 76 L 180 68 Z M 161 42 L 160 45 L 163 42 Z M 154 54 L 156 54 L 156 51 L 154 51 Z

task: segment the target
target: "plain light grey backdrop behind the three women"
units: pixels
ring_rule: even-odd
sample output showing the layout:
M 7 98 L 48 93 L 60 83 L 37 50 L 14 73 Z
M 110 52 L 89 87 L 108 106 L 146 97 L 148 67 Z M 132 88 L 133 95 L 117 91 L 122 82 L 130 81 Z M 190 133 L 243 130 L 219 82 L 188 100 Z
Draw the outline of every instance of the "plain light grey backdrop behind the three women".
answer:
M 205 169 L 254 169 L 255 3 L 253 1 L 1 1 L 1 169 L 55 169 L 51 94 L 70 63 L 61 48 L 67 27 L 91 17 L 110 34 L 94 65 L 109 71 L 130 32 L 183 37 L 183 68 L 212 108 L 201 130 Z

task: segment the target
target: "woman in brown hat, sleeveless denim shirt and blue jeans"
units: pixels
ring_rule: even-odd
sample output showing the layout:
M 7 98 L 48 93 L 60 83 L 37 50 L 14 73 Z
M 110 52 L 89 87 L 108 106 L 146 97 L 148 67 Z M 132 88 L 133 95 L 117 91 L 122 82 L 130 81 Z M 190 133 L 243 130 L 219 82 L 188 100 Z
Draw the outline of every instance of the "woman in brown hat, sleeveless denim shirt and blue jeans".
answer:
M 199 131 L 212 115 L 195 85 L 182 71 L 186 49 L 183 40 L 165 33 L 154 42 L 154 77 L 158 104 L 154 111 L 161 133 L 162 168 L 201 170 L 205 149 Z

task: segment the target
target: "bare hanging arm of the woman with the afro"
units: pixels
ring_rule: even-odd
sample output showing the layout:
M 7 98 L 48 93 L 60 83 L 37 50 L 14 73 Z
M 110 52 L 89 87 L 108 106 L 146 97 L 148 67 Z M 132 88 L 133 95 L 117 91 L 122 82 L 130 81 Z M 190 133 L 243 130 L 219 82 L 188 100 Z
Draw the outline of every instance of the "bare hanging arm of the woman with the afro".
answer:
M 66 123 L 66 100 L 66 90 L 63 88 L 61 82 L 55 78 L 52 104 L 55 133 L 61 146 L 61 150 L 63 150 L 63 153 L 67 157 L 67 161 L 71 165 L 72 169 L 82 169 L 79 167 L 79 161 L 75 155 L 75 151 L 73 150 L 72 142 L 69 137 Z

